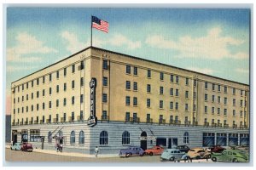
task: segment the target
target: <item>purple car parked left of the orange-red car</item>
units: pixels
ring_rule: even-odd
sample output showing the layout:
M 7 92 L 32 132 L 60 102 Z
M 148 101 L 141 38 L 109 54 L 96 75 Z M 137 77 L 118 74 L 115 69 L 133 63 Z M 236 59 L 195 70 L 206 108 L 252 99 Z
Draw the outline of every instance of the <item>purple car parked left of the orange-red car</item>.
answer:
M 126 149 L 119 151 L 120 157 L 130 157 L 130 156 L 144 156 L 145 151 L 139 146 L 129 146 Z

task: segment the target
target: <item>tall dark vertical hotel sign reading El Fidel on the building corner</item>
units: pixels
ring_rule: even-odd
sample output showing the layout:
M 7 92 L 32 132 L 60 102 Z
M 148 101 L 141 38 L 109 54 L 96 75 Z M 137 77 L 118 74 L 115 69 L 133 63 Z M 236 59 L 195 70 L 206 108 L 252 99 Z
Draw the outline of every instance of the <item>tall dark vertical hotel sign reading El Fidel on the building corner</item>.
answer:
M 97 124 L 96 117 L 96 78 L 90 80 L 90 117 L 87 125 L 94 127 Z

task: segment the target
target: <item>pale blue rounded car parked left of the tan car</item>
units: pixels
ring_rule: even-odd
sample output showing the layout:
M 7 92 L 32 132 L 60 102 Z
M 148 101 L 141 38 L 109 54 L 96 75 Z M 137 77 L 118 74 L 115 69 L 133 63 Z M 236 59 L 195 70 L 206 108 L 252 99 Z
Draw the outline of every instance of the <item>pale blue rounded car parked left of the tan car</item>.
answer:
M 188 160 L 189 156 L 180 150 L 177 149 L 167 149 L 160 156 L 160 161 L 179 161 L 179 160 Z

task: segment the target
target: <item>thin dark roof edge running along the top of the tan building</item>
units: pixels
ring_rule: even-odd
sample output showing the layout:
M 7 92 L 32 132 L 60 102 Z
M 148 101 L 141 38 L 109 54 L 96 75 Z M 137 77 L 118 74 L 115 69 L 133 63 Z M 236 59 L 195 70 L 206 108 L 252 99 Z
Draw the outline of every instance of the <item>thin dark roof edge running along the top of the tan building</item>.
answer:
M 69 58 L 73 57 L 73 56 L 76 55 L 76 54 L 82 53 L 82 52 L 84 52 L 85 50 L 87 50 L 87 49 L 89 49 L 89 48 L 92 48 L 92 49 L 94 48 L 94 49 L 101 50 L 101 51 L 105 51 L 105 52 L 108 52 L 108 53 L 123 55 L 123 56 L 125 56 L 125 57 L 129 57 L 129 58 L 132 58 L 132 59 L 139 59 L 139 60 L 143 60 L 143 61 L 148 61 L 148 62 L 157 64 L 157 65 L 165 65 L 165 66 L 172 67 L 172 68 L 175 68 L 175 69 L 178 69 L 178 70 L 182 70 L 182 71 L 190 71 L 190 70 L 187 70 L 187 69 L 179 68 L 179 67 L 177 67 L 177 66 L 166 65 L 166 64 L 163 64 L 163 63 L 160 63 L 160 62 L 157 62 L 157 61 L 153 61 L 153 60 L 149 60 L 149 59 L 142 59 L 142 58 L 134 57 L 134 56 L 131 56 L 131 55 L 128 55 L 128 54 L 122 54 L 122 53 L 114 52 L 114 51 L 111 51 L 111 50 L 108 50 L 108 49 L 96 48 L 96 47 L 93 47 L 93 46 L 90 46 L 90 47 L 88 47 L 88 48 L 84 48 L 84 49 L 80 50 L 79 52 L 77 52 L 77 53 L 75 53 L 75 54 L 72 54 L 72 55 L 68 56 L 68 57 L 65 58 L 65 59 L 61 59 L 60 61 L 58 61 L 58 62 L 56 62 L 56 63 L 54 63 L 54 64 L 52 64 L 52 65 L 56 65 L 56 64 L 60 63 L 61 61 L 66 60 L 66 59 L 69 59 Z M 40 69 L 40 70 L 35 71 L 35 72 L 32 72 L 31 74 L 27 75 L 26 77 L 29 77 L 29 76 L 31 76 L 32 74 L 35 74 L 35 73 L 37 73 L 37 72 L 39 72 L 39 71 L 43 71 L 44 69 L 47 69 L 47 68 L 49 68 L 49 67 L 52 66 L 52 65 L 48 65 L 48 66 L 44 67 L 43 69 Z M 207 74 L 204 74 L 204 73 L 201 73 L 201 72 L 197 72 L 197 71 L 190 71 L 190 72 L 193 72 L 193 73 L 196 73 L 196 74 L 200 74 L 200 75 L 203 75 L 203 76 L 207 76 L 207 77 L 213 77 L 213 76 L 211 76 L 211 75 L 207 75 Z M 21 79 L 26 78 L 26 77 L 21 77 L 20 79 L 16 80 L 15 82 L 18 82 L 18 81 L 20 81 Z M 220 80 L 224 80 L 224 81 L 228 81 L 228 82 L 235 82 L 235 83 L 238 83 L 238 84 L 241 84 L 241 85 L 249 86 L 249 84 L 246 84 L 246 83 L 236 82 L 236 81 L 232 81 L 232 80 L 229 80 L 229 79 L 224 79 L 224 78 L 221 78 L 221 77 L 213 77 L 213 78 L 217 78 L 217 79 L 220 79 Z M 12 83 L 14 83 L 14 82 L 12 82 Z

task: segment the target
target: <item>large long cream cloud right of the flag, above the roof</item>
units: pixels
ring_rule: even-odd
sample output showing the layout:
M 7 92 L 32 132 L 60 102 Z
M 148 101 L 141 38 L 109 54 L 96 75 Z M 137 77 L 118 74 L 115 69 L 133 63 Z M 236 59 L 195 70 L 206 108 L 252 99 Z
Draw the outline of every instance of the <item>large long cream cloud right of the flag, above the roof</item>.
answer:
M 177 41 L 166 39 L 161 35 L 148 36 L 146 43 L 153 48 L 177 50 L 177 57 L 203 58 L 203 59 L 247 59 L 248 54 L 239 52 L 231 54 L 228 46 L 239 46 L 244 40 L 233 37 L 222 37 L 222 30 L 212 28 L 205 37 L 179 37 Z

